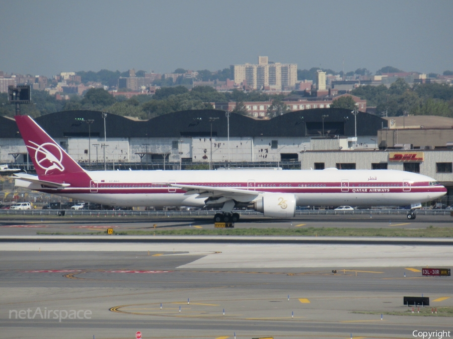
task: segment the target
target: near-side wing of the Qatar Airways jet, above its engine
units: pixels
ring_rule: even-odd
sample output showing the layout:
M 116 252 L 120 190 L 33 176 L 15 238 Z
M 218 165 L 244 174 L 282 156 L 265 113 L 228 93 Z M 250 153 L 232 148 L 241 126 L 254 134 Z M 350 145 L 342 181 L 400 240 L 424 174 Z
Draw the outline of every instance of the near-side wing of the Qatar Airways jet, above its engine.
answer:
M 262 191 L 231 188 L 231 187 L 211 187 L 211 186 L 201 186 L 201 185 L 181 185 L 181 184 L 170 184 L 170 186 L 175 188 L 180 188 L 186 191 L 186 195 L 189 194 L 198 194 L 200 197 L 225 197 L 237 201 L 252 201 L 258 195 L 266 193 Z

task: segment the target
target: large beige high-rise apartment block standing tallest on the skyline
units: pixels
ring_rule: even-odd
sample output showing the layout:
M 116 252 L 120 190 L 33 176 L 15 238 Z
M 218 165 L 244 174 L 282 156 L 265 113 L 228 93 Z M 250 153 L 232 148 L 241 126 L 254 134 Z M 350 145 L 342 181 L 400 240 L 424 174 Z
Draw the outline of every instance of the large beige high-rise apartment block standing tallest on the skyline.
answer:
M 297 64 L 269 62 L 268 57 L 259 56 L 258 64 L 230 66 L 235 84 L 252 89 L 281 90 L 295 86 L 297 81 Z

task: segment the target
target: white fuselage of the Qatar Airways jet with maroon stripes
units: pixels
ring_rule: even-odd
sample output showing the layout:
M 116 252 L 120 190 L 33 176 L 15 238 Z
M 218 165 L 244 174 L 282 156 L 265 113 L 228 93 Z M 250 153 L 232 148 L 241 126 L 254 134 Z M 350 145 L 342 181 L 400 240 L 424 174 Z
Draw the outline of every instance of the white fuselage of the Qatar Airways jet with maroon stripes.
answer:
M 241 189 L 294 194 L 297 205 L 407 205 L 434 200 L 446 189 L 424 175 L 395 170 L 213 170 L 213 171 L 87 171 L 90 187 L 42 188 L 17 180 L 16 185 L 74 199 L 116 206 L 206 205 L 209 195 L 178 185 L 213 190 Z M 175 185 L 175 186 L 172 186 Z M 198 192 L 200 193 L 200 192 Z M 252 196 L 253 195 L 249 195 Z M 238 202 L 249 203 L 249 197 Z

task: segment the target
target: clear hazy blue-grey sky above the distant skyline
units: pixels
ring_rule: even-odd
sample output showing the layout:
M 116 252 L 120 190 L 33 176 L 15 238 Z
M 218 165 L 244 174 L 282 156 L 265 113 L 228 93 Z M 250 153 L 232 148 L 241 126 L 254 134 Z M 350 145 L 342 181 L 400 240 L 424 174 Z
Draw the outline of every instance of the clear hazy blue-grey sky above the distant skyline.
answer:
M 0 70 L 453 70 L 453 1 L 0 0 Z

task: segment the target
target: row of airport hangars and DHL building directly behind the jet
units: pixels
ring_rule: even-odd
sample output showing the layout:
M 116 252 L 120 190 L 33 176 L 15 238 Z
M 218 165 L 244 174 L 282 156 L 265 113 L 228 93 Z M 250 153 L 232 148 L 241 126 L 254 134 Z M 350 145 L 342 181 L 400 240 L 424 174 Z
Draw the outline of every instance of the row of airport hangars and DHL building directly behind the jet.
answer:
M 35 121 L 85 168 L 103 169 L 105 159 L 109 169 L 398 169 L 430 176 L 453 195 L 453 126 L 412 126 L 407 117 L 407 128 L 401 118 L 314 108 L 270 120 L 207 109 L 148 121 L 73 110 Z M 14 119 L 0 117 L 0 145 L 0 163 L 31 168 Z

